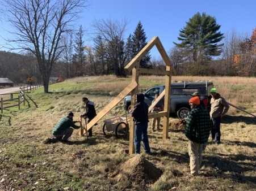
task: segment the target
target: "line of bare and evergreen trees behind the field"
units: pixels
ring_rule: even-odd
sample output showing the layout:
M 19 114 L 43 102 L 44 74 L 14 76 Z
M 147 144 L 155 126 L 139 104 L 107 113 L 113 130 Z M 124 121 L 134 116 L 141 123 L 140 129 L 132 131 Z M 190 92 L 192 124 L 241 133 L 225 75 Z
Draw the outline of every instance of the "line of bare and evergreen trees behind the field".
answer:
M 86 0 L 3 0 L 2 5 L 6 18 L 16 29 L 10 31 L 15 38 L 8 42 L 18 43 L 18 49 L 23 50 L 20 58 L 30 60 L 22 63 L 16 60 L 11 66 L 17 65 L 16 68 L 26 71 L 19 75 L 23 73 L 41 80 L 45 92 L 48 92 L 50 76 L 62 79 L 108 74 L 126 76 L 124 67 L 147 44 L 140 21 L 128 38 L 125 38 L 125 19 L 95 20 L 91 34 L 86 33 L 82 25 L 75 31 L 74 21 L 83 8 L 87 8 Z M 220 28 L 216 19 L 205 12 L 198 12 L 188 20 L 180 30 L 179 42 L 173 42 L 174 47 L 168 51 L 178 75 L 256 75 L 256 28 L 250 37 L 240 36 L 236 31 L 224 35 Z M 85 44 L 84 39 L 89 37 L 93 44 Z M 10 69 L 8 62 L 3 59 L 0 62 L 0 76 L 13 80 L 13 76 L 8 76 L 10 72 L 6 73 Z M 165 70 L 165 63 L 161 58 L 152 58 L 149 52 L 140 60 L 140 67 Z M 22 79 L 24 77 L 14 81 L 18 83 Z

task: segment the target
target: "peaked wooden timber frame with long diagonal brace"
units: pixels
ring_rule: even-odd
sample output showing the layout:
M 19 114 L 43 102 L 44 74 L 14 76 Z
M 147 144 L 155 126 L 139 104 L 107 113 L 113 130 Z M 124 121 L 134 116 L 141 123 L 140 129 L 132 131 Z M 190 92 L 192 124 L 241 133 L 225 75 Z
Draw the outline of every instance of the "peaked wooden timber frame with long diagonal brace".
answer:
M 152 47 L 156 45 L 157 50 L 159 51 L 163 61 L 166 64 L 166 70 L 152 70 L 140 68 L 140 60 L 152 49 Z M 168 129 L 169 129 L 169 111 L 170 111 L 170 88 L 171 88 L 171 75 L 176 75 L 175 69 L 171 66 L 170 58 L 168 57 L 165 49 L 162 46 L 162 43 L 158 37 L 153 37 L 152 40 L 148 42 L 148 44 L 136 55 L 135 58 L 131 60 L 124 68 L 125 72 L 129 73 L 132 71 L 132 82 L 129 84 L 118 96 L 116 96 L 106 107 L 100 111 L 94 119 L 92 119 L 87 124 L 87 130 L 89 130 L 95 123 L 97 123 L 100 119 L 103 118 L 112 108 L 114 108 L 122 99 L 127 96 L 131 92 L 132 100 L 131 100 L 131 109 L 135 106 L 135 96 L 138 92 L 139 87 L 139 74 L 154 74 L 154 75 L 165 75 L 165 90 L 158 96 L 156 101 L 149 107 L 149 111 L 156 105 L 156 103 L 165 96 L 164 100 L 164 109 L 161 112 L 156 114 L 149 114 L 149 119 L 157 118 L 163 116 L 163 140 L 168 138 Z M 134 123 L 131 117 L 129 122 L 129 154 L 135 153 L 135 147 L 133 144 L 134 138 Z M 81 128 L 79 134 L 85 134 L 85 129 Z

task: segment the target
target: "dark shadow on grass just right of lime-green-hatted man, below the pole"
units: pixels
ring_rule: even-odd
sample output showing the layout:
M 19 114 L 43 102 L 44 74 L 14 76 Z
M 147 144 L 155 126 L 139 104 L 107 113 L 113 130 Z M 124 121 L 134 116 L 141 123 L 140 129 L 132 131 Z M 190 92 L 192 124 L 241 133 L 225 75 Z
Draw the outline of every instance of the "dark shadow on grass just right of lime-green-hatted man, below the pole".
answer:
M 229 124 L 229 123 L 235 123 L 235 122 L 244 122 L 247 125 L 256 125 L 256 118 L 253 116 L 231 116 L 231 115 L 225 115 L 224 118 L 221 120 L 221 123 Z

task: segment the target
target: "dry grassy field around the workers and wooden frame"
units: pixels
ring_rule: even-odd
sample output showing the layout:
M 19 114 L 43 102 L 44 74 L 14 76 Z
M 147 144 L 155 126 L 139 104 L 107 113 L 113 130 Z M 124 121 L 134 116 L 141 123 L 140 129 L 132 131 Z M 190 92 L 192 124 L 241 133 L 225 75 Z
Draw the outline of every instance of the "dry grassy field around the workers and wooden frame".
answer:
M 226 101 L 256 115 L 256 78 L 174 76 L 172 81 L 213 81 Z M 139 90 L 164 84 L 161 76 L 141 76 Z M 69 111 L 74 120 L 84 112 L 82 97 L 95 103 L 99 112 L 129 83 L 115 76 L 78 77 L 26 95 L 21 110 L 4 111 L 0 121 L 0 190 L 256 190 L 256 119 L 230 107 L 221 124 L 222 144 L 205 147 L 200 176 L 188 176 L 188 140 L 183 131 L 149 132 L 153 155 L 142 157 L 162 171 L 152 184 L 116 179 L 114 172 L 134 156 L 127 154 L 128 138 L 103 135 L 103 120 L 122 107 L 119 103 L 93 129 L 93 137 L 74 130 L 69 142 L 43 144 L 52 137 L 58 119 Z M 125 116 L 121 109 L 118 113 Z M 171 117 L 170 123 L 178 119 Z M 150 124 L 150 123 L 149 123 Z M 131 168 L 132 168 L 131 163 Z

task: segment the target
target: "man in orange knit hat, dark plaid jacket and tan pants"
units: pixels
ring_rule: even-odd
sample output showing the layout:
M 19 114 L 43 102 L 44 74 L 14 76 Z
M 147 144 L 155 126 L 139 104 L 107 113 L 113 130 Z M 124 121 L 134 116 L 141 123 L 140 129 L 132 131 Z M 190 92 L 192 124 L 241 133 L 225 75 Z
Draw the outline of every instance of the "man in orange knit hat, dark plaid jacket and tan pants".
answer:
M 192 97 L 189 104 L 191 111 L 187 118 L 185 134 L 189 140 L 190 173 L 197 176 L 202 163 L 203 146 L 208 141 L 212 122 L 209 112 L 200 105 L 199 97 Z

